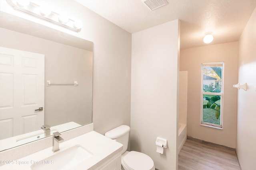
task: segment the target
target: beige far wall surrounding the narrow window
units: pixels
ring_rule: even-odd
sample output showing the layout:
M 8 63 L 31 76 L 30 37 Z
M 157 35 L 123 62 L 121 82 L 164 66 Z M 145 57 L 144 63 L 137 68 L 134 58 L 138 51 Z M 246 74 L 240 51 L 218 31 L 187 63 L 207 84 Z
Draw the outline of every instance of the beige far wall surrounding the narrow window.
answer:
M 224 61 L 223 129 L 200 125 L 201 64 L 218 61 Z M 237 65 L 238 42 L 180 51 L 180 70 L 188 70 L 188 136 L 236 148 Z

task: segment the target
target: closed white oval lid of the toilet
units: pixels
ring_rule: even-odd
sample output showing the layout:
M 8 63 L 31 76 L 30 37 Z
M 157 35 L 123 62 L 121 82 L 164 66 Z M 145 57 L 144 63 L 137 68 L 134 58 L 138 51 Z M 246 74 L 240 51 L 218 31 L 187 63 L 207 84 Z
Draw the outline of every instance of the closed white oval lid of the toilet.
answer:
M 124 163 L 132 170 L 151 170 L 153 160 L 146 154 L 136 151 L 129 152 L 123 158 Z

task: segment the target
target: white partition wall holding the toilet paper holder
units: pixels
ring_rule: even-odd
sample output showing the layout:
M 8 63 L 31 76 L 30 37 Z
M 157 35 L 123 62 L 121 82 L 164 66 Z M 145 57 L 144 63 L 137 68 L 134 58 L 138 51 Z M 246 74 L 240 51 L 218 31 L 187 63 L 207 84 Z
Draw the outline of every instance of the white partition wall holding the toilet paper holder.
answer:
M 131 150 L 141 151 L 160 170 L 178 168 L 179 21 L 132 34 Z M 168 140 L 156 152 L 156 137 Z

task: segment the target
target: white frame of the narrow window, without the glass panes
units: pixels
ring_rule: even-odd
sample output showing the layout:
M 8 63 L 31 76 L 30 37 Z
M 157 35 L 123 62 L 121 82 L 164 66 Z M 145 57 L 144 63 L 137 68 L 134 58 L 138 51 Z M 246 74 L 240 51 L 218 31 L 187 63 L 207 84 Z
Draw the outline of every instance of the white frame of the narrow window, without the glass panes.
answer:
M 204 67 L 209 65 L 219 65 L 222 64 L 221 69 L 221 92 L 204 92 Z M 203 122 L 203 101 L 204 101 L 204 94 L 206 95 L 218 95 L 220 96 L 220 125 L 214 124 L 214 123 L 207 123 Z M 201 64 L 201 104 L 200 104 L 200 125 L 207 126 L 207 127 L 213 127 L 216 129 L 223 129 L 223 100 L 224 99 L 224 61 L 220 62 L 212 62 L 212 63 L 202 63 Z

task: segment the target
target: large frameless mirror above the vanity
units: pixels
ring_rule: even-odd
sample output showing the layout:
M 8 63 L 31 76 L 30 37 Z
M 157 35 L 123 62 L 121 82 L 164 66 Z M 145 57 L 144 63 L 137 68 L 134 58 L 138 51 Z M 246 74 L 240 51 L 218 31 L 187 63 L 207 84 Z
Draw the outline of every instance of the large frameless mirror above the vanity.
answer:
M 43 124 L 49 125 L 53 132 L 63 132 L 92 123 L 93 43 L 4 12 L 0 12 L 0 23 L 1 47 L 44 55 L 44 63 L 36 63 L 44 64 L 43 90 L 40 91 L 29 84 L 30 82 L 33 84 L 36 79 L 31 79 L 32 74 L 24 76 L 25 79 L 22 79 L 18 85 L 13 83 L 21 89 L 26 88 L 21 92 L 22 94 L 26 91 L 29 94 L 27 96 L 33 97 L 35 92 L 39 91 L 44 97 L 42 106 L 36 106 L 43 107 L 43 110 L 34 111 L 36 108 L 33 108 L 33 113 L 26 116 L 19 112 L 17 113 L 20 115 L 19 122 L 14 117 L 6 116 L 5 110 L 10 113 L 12 107 L 15 107 L 15 100 L 24 101 L 27 96 L 25 98 L 22 94 L 16 95 L 17 92 L 12 90 L 14 87 L 6 85 L 6 82 L 11 81 L 12 78 L 8 77 L 10 74 L 6 76 L 8 72 L 3 71 L 5 68 L 2 63 L 0 92 L 8 91 L 9 96 L 0 98 L 0 151 L 45 137 L 42 134 L 44 131 L 40 129 Z M 10 58 L 9 55 L 0 55 L 2 55 L 0 58 L 2 62 Z M 24 61 L 21 64 L 30 66 L 31 63 Z M 47 81 L 51 83 L 47 84 Z M 77 82 L 77 86 L 74 82 Z M 12 82 L 9 83 L 12 84 Z M 12 104 L 6 105 L 4 100 L 10 100 L 9 103 Z M 30 100 L 32 101 L 28 98 L 27 104 L 21 107 L 35 106 L 36 102 L 30 102 Z M 38 120 L 39 113 L 44 113 L 43 118 L 41 117 L 43 120 Z M 15 126 L 18 132 L 15 132 Z

